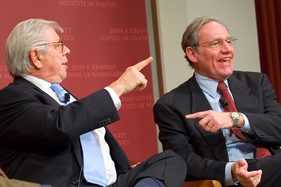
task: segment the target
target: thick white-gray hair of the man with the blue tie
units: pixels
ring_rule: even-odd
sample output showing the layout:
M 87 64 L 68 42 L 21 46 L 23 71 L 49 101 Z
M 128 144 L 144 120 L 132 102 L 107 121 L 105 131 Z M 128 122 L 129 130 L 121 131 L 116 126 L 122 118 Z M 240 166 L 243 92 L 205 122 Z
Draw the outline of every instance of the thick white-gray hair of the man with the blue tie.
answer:
M 30 19 L 19 23 L 10 33 L 6 41 L 6 62 L 9 74 L 23 76 L 34 66 L 31 63 L 30 51 L 40 42 L 48 43 L 43 31 L 46 27 L 63 32 L 58 23 L 43 19 Z M 36 47 L 38 51 L 46 53 L 48 45 Z

